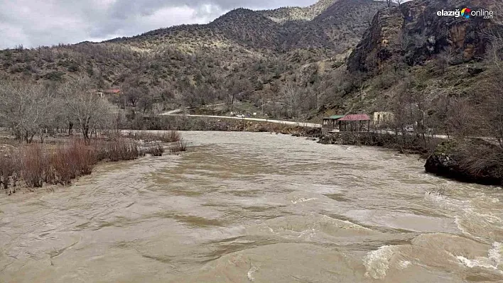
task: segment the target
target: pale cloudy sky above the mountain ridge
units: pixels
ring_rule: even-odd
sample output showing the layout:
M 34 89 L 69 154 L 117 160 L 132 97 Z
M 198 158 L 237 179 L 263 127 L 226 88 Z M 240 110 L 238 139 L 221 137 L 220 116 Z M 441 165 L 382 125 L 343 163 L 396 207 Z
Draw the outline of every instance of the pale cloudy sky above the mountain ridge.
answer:
M 308 6 L 316 0 L 0 0 L 0 49 L 100 41 L 182 23 L 208 23 L 234 8 Z

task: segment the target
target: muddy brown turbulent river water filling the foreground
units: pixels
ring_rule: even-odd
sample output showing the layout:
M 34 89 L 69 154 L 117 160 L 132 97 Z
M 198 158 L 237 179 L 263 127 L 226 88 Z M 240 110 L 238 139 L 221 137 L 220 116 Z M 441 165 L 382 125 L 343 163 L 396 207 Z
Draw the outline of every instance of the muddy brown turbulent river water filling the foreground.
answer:
M 0 196 L 0 282 L 503 282 L 503 192 L 379 148 L 183 133 Z

